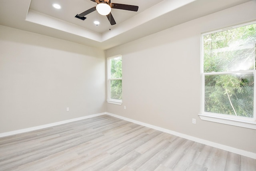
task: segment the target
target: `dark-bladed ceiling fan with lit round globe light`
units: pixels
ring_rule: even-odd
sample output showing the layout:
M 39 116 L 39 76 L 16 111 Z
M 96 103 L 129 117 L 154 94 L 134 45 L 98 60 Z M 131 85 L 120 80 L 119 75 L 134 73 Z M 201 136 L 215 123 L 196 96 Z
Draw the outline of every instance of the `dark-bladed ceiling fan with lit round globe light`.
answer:
M 75 17 L 79 18 L 81 20 L 86 19 L 86 15 L 90 14 L 91 12 L 94 12 L 95 10 L 98 11 L 99 14 L 104 15 L 108 18 L 111 25 L 116 24 L 116 21 L 114 20 L 112 14 L 111 14 L 111 8 L 116 8 L 120 10 L 128 10 L 128 11 L 138 11 L 138 6 L 134 5 L 126 5 L 126 4 L 116 4 L 111 3 L 110 0 L 91 0 L 92 2 L 96 2 L 97 6 L 94 6 L 90 8 L 89 10 L 86 10 L 82 12 L 81 14 L 77 14 Z M 105 11 L 106 10 L 106 11 Z

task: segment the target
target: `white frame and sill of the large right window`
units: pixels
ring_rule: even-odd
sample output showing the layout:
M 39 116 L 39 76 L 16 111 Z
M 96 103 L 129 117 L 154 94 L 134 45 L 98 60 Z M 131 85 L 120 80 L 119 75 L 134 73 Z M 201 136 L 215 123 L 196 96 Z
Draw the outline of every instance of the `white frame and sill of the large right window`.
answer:
M 205 76 L 242 73 L 242 74 L 254 74 L 254 81 L 256 80 L 256 70 L 204 73 L 204 36 L 207 34 L 221 32 L 224 30 L 238 28 L 238 27 L 242 27 L 242 26 L 246 26 L 246 25 L 250 25 L 250 24 L 255 24 L 255 23 L 256 23 L 256 21 L 202 34 L 202 37 L 201 37 L 202 97 L 201 97 L 201 113 L 198 114 L 200 119 L 205 120 L 205 121 L 212 121 L 212 122 L 216 122 L 216 123 L 224 123 L 227 125 L 234 125 L 234 126 L 238 126 L 238 127 L 246 127 L 246 128 L 250 128 L 250 129 L 256 129 L 256 85 L 255 84 L 254 84 L 254 117 L 253 118 L 219 114 L 219 113 L 211 113 L 211 112 L 204 111 L 204 95 L 205 95 L 204 94 L 204 91 L 205 91 L 204 90 L 204 88 L 205 88 L 204 87 L 205 86 L 204 79 L 205 79 Z

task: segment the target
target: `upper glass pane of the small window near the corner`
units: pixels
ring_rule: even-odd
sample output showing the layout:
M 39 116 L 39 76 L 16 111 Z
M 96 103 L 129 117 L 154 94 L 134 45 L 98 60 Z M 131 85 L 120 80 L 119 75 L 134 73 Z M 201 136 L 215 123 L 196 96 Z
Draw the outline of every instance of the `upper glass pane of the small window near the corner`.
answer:
M 110 78 L 122 78 L 122 57 L 110 59 Z

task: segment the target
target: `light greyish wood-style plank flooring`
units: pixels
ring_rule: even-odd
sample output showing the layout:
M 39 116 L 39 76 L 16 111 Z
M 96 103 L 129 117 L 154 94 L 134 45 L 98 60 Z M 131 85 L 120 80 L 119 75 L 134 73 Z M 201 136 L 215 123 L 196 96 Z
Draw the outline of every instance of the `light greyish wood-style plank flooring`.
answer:
M 0 171 L 256 171 L 256 159 L 109 115 L 0 138 Z

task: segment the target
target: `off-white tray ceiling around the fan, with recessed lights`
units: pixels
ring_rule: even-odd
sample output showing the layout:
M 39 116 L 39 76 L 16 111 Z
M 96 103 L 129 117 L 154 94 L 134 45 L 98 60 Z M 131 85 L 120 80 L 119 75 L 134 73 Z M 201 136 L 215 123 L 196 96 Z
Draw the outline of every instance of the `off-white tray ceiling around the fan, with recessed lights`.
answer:
M 0 25 L 106 50 L 172 26 L 250 0 L 112 0 L 139 6 L 138 12 L 112 9 L 116 24 L 97 11 L 75 18 L 97 4 L 91 0 L 0 0 Z M 53 3 L 62 6 L 52 7 Z M 96 26 L 93 22 L 98 20 Z

